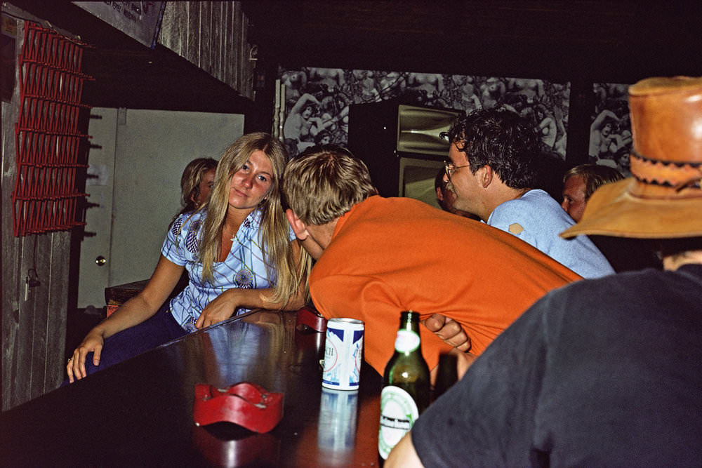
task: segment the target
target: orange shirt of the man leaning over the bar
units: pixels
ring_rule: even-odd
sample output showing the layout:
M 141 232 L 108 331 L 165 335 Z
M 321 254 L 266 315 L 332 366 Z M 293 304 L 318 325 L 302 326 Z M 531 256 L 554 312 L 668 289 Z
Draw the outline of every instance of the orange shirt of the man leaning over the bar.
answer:
M 338 220 L 310 293 L 327 319 L 365 322 L 364 358 L 383 375 L 404 310 L 458 321 L 480 354 L 541 296 L 578 279 L 512 234 L 421 201 L 371 196 Z M 451 346 L 424 326 L 420 335 L 432 369 Z

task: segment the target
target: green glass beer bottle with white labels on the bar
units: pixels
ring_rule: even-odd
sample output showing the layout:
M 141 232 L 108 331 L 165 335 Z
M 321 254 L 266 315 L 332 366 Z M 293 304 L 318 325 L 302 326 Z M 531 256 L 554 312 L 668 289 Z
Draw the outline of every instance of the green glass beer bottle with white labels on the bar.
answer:
M 419 314 L 402 312 L 392 355 L 383 375 L 380 394 L 378 453 L 386 460 L 395 445 L 429 406 L 429 368 L 422 357 Z

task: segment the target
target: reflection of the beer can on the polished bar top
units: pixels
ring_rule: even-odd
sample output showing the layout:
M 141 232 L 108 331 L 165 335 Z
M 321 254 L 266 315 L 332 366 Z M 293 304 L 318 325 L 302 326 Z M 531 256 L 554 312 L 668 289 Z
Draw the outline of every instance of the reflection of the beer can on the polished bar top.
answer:
M 357 408 L 357 391 L 322 387 L 317 446 L 326 455 L 340 455 L 347 461 L 347 453 L 353 450 L 356 443 Z

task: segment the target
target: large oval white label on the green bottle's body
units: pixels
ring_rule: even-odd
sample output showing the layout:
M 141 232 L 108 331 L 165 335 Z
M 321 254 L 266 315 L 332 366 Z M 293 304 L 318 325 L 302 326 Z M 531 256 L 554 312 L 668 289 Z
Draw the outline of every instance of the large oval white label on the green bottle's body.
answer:
M 412 429 L 419 417 L 417 404 L 411 395 L 399 387 L 388 385 L 380 393 L 380 431 L 378 453 L 387 460 L 390 450 Z

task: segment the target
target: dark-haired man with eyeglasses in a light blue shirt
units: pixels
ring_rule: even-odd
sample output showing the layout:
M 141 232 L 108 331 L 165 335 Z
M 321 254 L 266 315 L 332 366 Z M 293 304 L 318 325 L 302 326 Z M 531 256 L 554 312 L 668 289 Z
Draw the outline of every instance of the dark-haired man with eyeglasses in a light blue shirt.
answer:
M 587 236 L 558 236 L 574 221 L 549 194 L 533 188 L 540 149 L 527 119 L 507 109 L 479 109 L 458 116 L 442 136 L 451 142 L 445 165 L 454 208 L 530 243 L 583 278 L 614 273 Z

